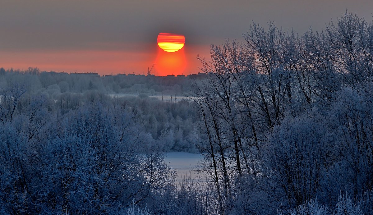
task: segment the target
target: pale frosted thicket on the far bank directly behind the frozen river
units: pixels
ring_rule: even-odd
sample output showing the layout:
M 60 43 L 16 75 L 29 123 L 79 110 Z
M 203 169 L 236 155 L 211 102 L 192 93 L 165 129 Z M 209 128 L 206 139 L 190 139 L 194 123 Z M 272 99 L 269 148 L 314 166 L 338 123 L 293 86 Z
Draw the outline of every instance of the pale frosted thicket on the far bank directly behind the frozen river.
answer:
M 141 95 L 116 99 L 131 109 L 137 123 L 151 135 L 149 151 L 197 152 L 197 113 L 188 101 L 163 102 Z

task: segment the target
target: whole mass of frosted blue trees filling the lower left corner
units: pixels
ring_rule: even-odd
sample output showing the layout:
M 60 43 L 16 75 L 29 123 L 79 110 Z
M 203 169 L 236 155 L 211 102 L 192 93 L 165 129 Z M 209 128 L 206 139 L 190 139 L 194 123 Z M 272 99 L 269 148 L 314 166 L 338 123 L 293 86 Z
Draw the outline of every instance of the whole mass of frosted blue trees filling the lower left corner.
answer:
M 172 187 L 173 171 L 145 153 L 131 113 L 96 102 L 56 116 L 26 101 L 0 127 L 3 214 L 116 214 Z M 49 121 L 37 126 L 40 117 Z

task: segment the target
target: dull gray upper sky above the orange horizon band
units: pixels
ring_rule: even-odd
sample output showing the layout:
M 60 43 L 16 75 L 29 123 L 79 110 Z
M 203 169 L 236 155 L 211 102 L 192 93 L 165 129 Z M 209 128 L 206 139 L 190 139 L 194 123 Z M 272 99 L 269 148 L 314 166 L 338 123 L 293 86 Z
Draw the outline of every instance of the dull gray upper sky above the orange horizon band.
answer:
M 29 51 L 150 53 L 159 32 L 184 34 L 186 56 L 195 58 L 208 54 L 211 43 L 240 39 L 252 21 L 272 20 L 303 33 L 310 25 L 325 28 L 346 9 L 373 19 L 373 0 L 1 0 L 0 67 L 12 65 L 1 60 L 4 52 L 14 57 Z

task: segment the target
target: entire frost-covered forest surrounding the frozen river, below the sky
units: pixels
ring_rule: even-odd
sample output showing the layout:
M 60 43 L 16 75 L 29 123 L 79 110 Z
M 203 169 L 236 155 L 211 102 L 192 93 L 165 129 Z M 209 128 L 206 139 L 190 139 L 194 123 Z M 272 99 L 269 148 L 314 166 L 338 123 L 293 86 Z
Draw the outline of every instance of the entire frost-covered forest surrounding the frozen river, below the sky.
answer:
M 242 36 L 181 85 L 0 69 L 0 213 L 373 214 L 373 22 Z

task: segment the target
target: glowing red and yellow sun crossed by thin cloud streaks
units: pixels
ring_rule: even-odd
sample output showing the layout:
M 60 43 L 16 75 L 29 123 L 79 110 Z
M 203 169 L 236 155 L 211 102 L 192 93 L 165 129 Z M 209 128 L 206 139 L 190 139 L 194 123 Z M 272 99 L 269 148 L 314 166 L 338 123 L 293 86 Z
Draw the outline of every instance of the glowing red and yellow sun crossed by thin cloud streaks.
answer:
M 157 42 L 164 51 L 175 52 L 184 47 L 185 37 L 180 34 L 159 33 Z

